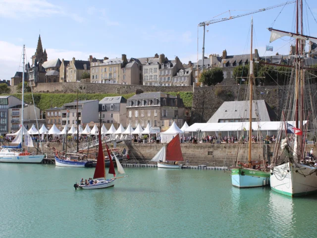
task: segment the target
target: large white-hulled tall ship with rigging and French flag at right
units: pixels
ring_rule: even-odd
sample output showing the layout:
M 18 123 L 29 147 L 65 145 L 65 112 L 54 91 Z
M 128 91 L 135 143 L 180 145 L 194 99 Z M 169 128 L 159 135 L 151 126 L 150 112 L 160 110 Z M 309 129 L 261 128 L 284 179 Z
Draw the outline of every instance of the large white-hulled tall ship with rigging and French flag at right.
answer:
M 303 35 L 303 1 L 296 0 L 296 33 L 273 28 L 268 30 L 271 32 L 270 42 L 283 36 L 296 39 L 294 63 L 289 66 L 293 68 L 288 82 L 289 93 L 282 112 L 284 121 L 281 123 L 270 166 L 270 186 L 273 191 L 291 197 L 317 193 L 317 167 L 314 166 L 316 161 L 307 161 L 305 158 L 308 123 L 311 118 L 313 126 L 316 125 L 316 101 L 312 97 L 315 92 L 311 91 L 310 85 L 312 76 L 305 75 L 307 67 L 304 59 L 306 40 L 317 43 L 317 38 Z M 306 109 L 312 112 L 307 112 Z M 288 120 L 294 120 L 294 124 L 287 123 Z M 304 126 L 305 120 L 308 122 Z M 311 162 L 313 164 L 310 164 Z

